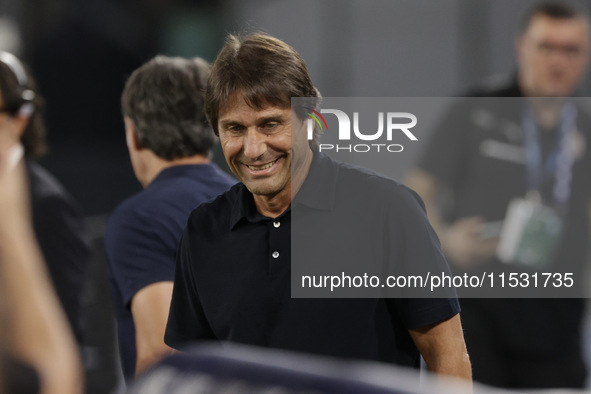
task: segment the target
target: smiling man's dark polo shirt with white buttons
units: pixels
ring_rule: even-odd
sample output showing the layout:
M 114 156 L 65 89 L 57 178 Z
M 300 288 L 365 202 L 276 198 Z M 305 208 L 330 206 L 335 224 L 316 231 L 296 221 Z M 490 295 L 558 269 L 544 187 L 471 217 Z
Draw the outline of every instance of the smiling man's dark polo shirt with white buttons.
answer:
M 373 176 L 316 154 L 294 210 L 298 204 L 324 206 L 327 201 L 340 201 L 339 196 L 357 189 L 359 177 Z M 381 183 L 385 178 L 376 179 Z M 377 198 L 406 201 L 398 209 L 404 215 L 398 218 L 400 225 L 416 221 L 417 228 L 425 223 L 430 228 L 418 196 L 394 181 L 386 183 L 396 184 L 386 189 L 399 195 Z M 334 215 L 342 215 L 342 207 L 334 206 Z M 179 348 L 200 340 L 232 341 L 417 366 L 419 353 L 408 329 L 454 316 L 459 312 L 458 300 L 291 298 L 293 212 L 290 207 L 277 218 L 264 217 L 256 210 L 252 194 L 237 184 L 191 213 L 177 255 L 165 342 Z M 325 225 L 329 233 L 336 230 L 331 226 L 341 224 L 328 220 Z M 434 242 L 429 236 L 414 237 L 413 245 L 396 244 L 403 239 L 392 239 L 388 248 L 419 250 L 416 256 L 445 265 L 439 245 L 422 245 Z M 425 250 L 435 252 L 426 255 Z

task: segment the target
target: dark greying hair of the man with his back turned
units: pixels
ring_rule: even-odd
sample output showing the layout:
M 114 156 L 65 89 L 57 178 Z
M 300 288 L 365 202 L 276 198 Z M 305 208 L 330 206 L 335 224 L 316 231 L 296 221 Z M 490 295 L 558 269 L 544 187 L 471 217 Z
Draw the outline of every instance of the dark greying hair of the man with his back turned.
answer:
M 200 58 L 156 56 L 135 70 L 121 95 L 142 148 L 165 160 L 209 155 L 215 136 L 204 94 L 209 64 Z

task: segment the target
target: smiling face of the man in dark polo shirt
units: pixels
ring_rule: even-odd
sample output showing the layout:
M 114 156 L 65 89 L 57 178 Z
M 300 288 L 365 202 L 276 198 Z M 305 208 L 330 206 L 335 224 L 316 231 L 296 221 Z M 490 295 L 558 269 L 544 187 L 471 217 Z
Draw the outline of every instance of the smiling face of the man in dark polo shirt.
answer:
M 291 115 L 290 108 L 252 108 L 239 92 L 220 111 L 218 129 L 226 161 L 255 198 L 291 197 L 292 166 L 298 168 L 311 154 L 304 122 L 292 124 Z M 292 128 L 298 133 L 293 144 Z

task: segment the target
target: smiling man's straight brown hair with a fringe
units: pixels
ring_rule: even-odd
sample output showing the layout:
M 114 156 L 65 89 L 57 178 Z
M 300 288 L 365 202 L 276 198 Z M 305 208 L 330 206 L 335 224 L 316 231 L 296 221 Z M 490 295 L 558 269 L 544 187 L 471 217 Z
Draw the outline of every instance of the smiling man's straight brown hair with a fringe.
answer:
M 269 105 L 290 108 L 292 97 L 309 97 L 306 106 L 317 108 L 321 98 L 295 49 L 264 33 L 228 35 L 212 66 L 205 112 L 216 135 L 219 135 L 219 114 L 236 92 L 256 109 Z M 303 108 L 294 110 L 300 119 L 306 118 Z

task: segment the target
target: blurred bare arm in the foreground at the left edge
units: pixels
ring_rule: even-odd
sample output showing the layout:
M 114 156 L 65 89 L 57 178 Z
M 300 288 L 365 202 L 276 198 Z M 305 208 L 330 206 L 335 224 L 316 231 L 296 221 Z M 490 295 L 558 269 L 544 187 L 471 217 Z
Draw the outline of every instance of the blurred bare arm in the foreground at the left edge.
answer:
M 0 115 L 0 393 L 78 394 L 79 353 L 35 239 L 18 134 L 5 130 L 14 121 Z

